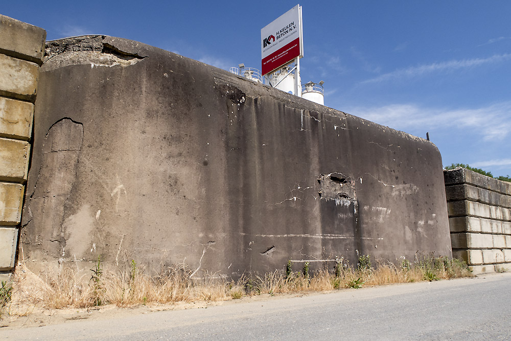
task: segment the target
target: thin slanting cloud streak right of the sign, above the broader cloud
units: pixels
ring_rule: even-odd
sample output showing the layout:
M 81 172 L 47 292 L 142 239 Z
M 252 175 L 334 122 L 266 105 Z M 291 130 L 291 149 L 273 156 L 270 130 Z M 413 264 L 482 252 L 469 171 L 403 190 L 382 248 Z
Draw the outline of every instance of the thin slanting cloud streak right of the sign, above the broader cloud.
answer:
M 375 78 L 371 78 L 362 81 L 360 84 L 367 83 L 379 83 L 383 81 L 389 81 L 392 79 L 403 79 L 403 78 L 415 78 L 424 76 L 433 72 L 438 71 L 454 71 L 458 69 L 464 69 L 466 67 L 478 66 L 482 64 L 498 63 L 505 60 L 511 59 L 511 53 L 505 53 L 500 55 L 493 55 L 487 58 L 473 58 L 463 60 L 450 60 L 432 64 L 424 64 L 419 66 L 411 66 L 406 69 L 399 69 L 392 71 Z

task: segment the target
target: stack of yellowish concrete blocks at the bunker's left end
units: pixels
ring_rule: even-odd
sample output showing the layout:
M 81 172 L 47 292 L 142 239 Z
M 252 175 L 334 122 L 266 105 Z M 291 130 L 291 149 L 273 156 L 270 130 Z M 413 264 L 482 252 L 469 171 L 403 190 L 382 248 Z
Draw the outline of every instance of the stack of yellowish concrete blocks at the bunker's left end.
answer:
M 0 270 L 16 259 L 46 31 L 0 15 Z

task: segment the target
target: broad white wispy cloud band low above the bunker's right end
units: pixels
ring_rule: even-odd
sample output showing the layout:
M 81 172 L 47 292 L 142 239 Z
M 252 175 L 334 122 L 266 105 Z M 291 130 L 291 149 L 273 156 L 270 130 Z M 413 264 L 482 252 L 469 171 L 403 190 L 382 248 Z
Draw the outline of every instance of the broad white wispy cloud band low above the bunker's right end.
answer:
M 441 109 L 415 104 L 353 107 L 347 112 L 395 129 L 473 129 L 484 140 L 501 141 L 511 133 L 511 101 L 476 109 Z

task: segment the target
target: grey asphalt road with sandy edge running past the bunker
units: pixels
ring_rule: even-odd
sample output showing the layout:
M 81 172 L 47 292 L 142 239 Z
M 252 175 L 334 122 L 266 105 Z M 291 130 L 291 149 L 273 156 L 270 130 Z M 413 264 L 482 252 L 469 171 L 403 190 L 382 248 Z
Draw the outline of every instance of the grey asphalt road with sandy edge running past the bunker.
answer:
M 511 340 L 511 274 L 0 329 L 7 340 Z

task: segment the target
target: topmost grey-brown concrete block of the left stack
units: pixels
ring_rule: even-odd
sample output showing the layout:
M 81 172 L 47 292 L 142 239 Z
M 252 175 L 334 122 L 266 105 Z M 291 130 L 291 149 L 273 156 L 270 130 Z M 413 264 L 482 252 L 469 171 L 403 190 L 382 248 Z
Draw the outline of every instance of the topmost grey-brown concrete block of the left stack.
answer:
M 1 50 L 14 52 L 13 56 L 16 58 L 42 61 L 46 31 L 26 22 L 0 15 L 0 32 L 2 32 Z

